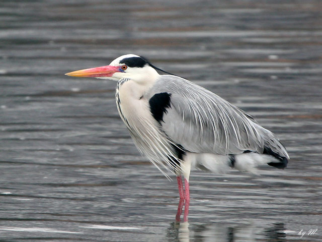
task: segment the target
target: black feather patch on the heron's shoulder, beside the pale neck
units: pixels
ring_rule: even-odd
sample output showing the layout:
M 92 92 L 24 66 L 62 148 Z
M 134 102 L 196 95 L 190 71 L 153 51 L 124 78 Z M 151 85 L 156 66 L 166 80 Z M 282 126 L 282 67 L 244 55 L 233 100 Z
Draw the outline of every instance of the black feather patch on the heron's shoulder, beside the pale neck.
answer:
M 168 92 L 156 93 L 150 98 L 150 111 L 157 122 L 164 122 L 163 114 L 167 113 L 167 108 L 171 107 L 170 100 L 171 93 Z

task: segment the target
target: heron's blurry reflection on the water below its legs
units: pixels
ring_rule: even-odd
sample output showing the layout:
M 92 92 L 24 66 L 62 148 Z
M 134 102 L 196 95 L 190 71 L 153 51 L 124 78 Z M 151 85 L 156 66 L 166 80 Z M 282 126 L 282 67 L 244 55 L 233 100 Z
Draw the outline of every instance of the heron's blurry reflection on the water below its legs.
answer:
M 275 241 L 286 242 L 284 223 L 272 223 L 267 228 L 254 224 L 189 224 L 189 222 L 172 222 L 167 231 L 166 241 Z

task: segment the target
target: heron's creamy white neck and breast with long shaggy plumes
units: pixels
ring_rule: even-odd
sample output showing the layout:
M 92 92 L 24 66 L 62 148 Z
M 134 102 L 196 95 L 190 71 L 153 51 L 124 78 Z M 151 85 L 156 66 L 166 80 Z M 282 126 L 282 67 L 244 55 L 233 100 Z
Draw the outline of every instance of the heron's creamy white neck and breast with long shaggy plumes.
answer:
M 120 83 L 117 89 L 116 101 L 120 116 L 138 150 L 160 171 L 160 167 L 164 167 L 173 172 L 165 163 L 170 165 L 169 158 L 176 157 L 172 146 L 174 144 L 160 130 L 159 124 L 153 118 L 142 87 L 128 79 Z

